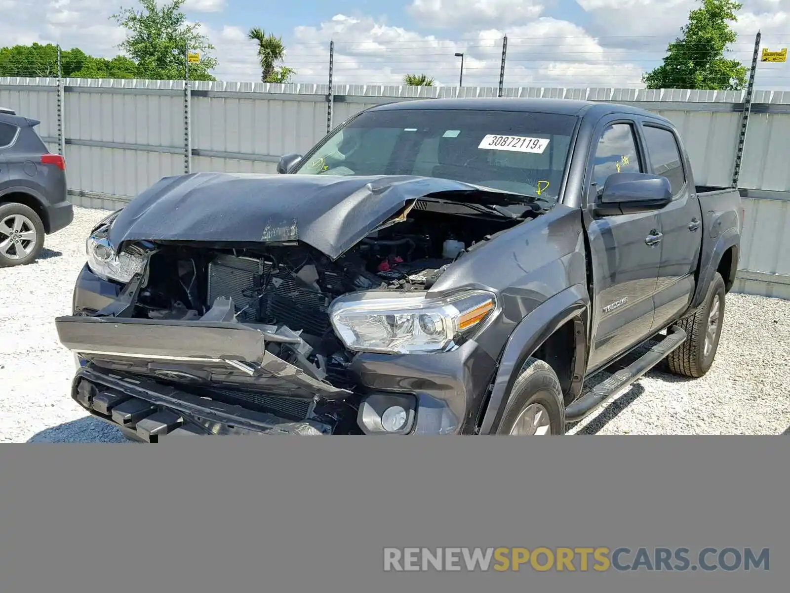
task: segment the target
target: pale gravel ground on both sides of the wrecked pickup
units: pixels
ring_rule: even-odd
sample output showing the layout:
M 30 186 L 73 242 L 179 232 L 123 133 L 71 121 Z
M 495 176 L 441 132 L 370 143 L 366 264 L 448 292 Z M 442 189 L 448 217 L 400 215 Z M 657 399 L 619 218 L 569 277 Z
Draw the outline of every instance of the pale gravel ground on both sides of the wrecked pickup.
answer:
M 106 213 L 75 209 L 73 224 L 47 237 L 37 263 L 0 270 L 0 441 L 125 442 L 72 402 L 73 357 L 53 323 L 70 312 L 85 237 Z M 729 295 L 717 359 L 705 377 L 651 372 L 569 432 L 790 433 L 788 353 L 790 301 Z

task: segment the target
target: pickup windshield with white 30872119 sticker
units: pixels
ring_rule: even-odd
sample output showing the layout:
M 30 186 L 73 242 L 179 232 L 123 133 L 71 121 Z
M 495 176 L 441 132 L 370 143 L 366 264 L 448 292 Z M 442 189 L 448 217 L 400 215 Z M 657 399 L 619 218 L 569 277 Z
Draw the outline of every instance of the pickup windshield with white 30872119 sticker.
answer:
M 524 111 L 366 111 L 295 174 L 439 177 L 556 202 L 575 126 L 574 115 Z

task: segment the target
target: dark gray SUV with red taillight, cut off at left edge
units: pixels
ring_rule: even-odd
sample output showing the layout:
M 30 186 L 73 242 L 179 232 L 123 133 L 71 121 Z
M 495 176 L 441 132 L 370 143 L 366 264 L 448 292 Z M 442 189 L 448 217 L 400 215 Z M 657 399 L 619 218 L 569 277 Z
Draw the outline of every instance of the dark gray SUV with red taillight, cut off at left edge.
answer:
M 0 267 L 35 261 L 74 213 L 66 199 L 66 161 L 47 150 L 36 119 L 0 108 Z

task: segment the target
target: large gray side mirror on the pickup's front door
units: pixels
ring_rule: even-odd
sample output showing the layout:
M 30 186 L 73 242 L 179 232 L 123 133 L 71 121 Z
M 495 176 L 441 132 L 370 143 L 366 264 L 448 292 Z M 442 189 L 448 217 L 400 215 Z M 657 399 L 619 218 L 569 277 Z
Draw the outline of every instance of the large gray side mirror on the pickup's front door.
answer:
M 669 179 L 649 173 L 615 173 L 608 176 L 595 209 L 602 216 L 661 210 L 672 202 Z

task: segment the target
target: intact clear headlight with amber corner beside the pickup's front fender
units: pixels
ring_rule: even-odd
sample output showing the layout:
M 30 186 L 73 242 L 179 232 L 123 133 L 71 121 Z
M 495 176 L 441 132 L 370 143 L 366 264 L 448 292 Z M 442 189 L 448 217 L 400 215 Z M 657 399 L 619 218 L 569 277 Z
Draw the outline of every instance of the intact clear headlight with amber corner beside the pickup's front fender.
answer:
M 495 295 L 482 290 L 444 299 L 371 291 L 340 296 L 329 315 L 348 349 L 419 353 L 446 349 L 457 336 L 480 327 L 495 308 Z

